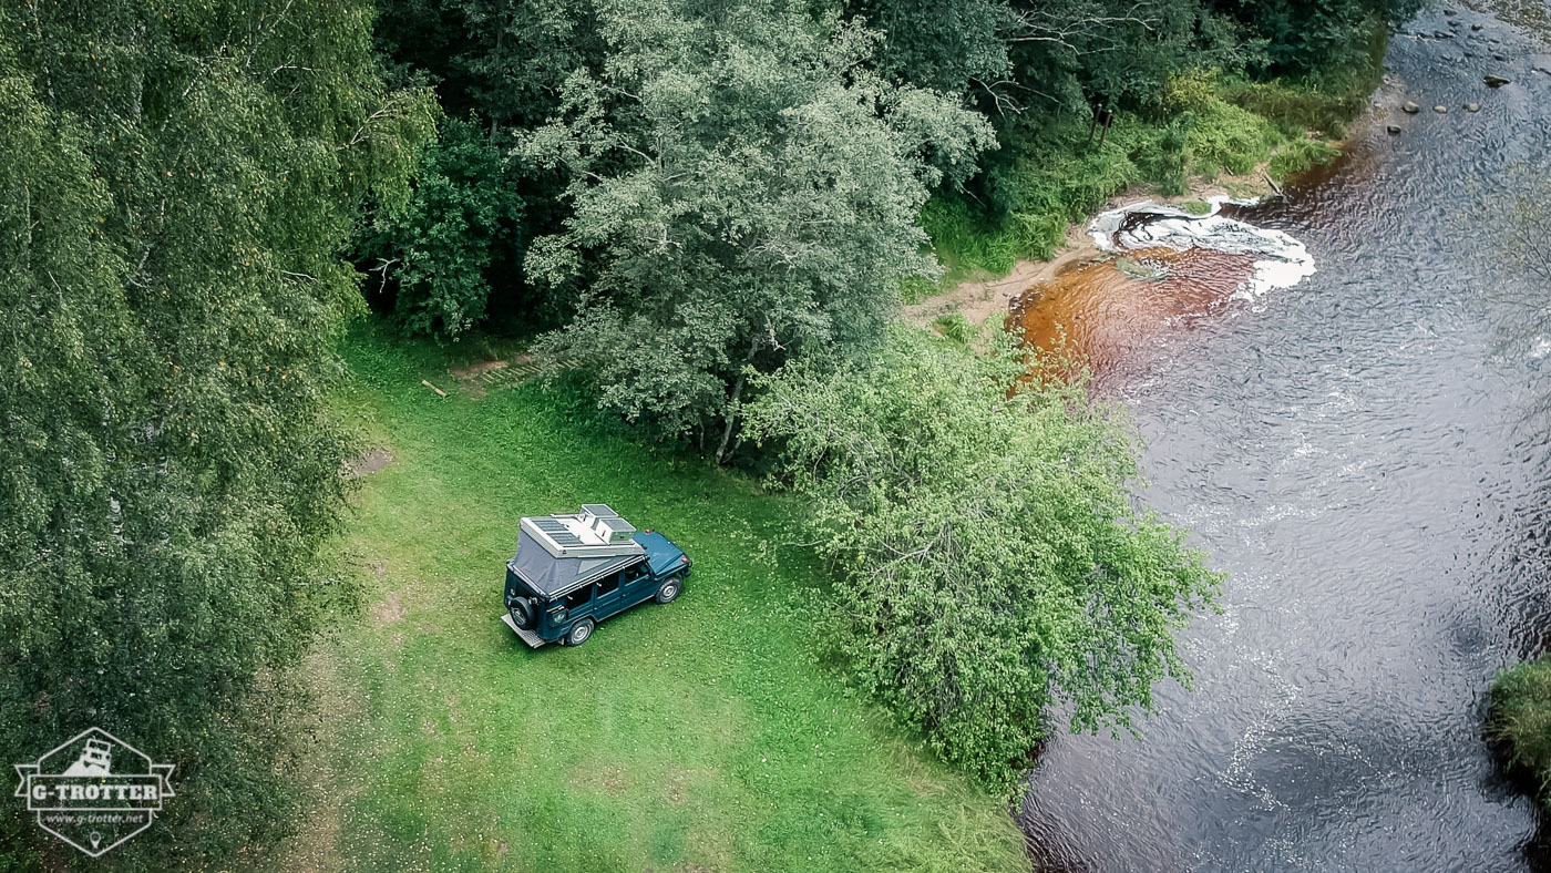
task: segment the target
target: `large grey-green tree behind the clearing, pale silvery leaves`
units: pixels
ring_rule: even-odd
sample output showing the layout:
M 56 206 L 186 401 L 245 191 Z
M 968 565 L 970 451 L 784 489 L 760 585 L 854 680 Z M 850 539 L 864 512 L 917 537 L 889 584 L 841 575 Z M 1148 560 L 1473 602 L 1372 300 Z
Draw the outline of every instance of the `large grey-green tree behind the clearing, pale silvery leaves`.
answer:
M 526 261 L 577 307 L 543 347 L 627 420 L 720 430 L 723 459 L 746 372 L 872 346 L 898 282 L 935 270 L 917 214 L 990 130 L 873 74 L 878 34 L 779 2 L 599 17 L 606 62 L 518 152 L 569 177 L 565 231 Z

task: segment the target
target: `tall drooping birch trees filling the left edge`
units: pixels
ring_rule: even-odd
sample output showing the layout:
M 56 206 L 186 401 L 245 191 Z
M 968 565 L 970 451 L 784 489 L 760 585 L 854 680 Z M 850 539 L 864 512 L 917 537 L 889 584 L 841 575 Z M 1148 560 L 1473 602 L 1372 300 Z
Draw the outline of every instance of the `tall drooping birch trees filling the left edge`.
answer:
M 340 591 L 340 253 L 431 126 L 380 87 L 368 11 L 0 11 L 0 747 L 96 724 L 177 763 L 132 867 L 284 814 L 284 667 Z M 36 826 L 0 831 L 36 862 Z

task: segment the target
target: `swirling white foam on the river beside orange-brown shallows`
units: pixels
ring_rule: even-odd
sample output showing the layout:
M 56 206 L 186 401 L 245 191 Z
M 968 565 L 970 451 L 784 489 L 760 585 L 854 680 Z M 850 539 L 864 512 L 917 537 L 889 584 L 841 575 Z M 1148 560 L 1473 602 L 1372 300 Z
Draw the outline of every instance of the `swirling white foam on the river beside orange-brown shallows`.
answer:
M 1314 256 L 1295 237 L 1219 214 L 1224 203 L 1253 206 L 1255 200 L 1211 197 L 1207 203 L 1210 211 L 1205 216 L 1191 216 L 1162 203 L 1132 203 L 1100 212 L 1087 225 L 1087 233 L 1101 251 L 1168 247 L 1176 251 L 1210 248 L 1228 254 L 1255 254 L 1255 270 L 1233 295 L 1241 299 L 1255 299 L 1270 288 L 1290 288 L 1314 274 Z M 1157 217 L 1121 231 L 1126 217 L 1137 212 Z

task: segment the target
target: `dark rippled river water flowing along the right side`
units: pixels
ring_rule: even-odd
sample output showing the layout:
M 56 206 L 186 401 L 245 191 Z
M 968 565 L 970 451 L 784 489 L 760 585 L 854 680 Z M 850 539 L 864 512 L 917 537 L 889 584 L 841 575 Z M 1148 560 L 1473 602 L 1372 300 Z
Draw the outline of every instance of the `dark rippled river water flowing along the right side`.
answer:
M 1531 70 L 1551 47 L 1458 17 L 1459 39 L 1408 36 L 1449 29 L 1436 12 L 1391 45 L 1376 99 L 1421 115 L 1359 129 L 1334 174 L 1245 214 L 1318 273 L 1162 333 L 1118 388 L 1148 501 L 1230 574 L 1227 612 L 1190 631 L 1196 692 L 1165 688 L 1142 741 L 1048 744 L 1021 814 L 1042 865 L 1546 867 L 1480 726 L 1492 673 L 1551 630 L 1551 428 L 1523 423 L 1551 360 L 1500 350 L 1515 313 L 1484 293 L 1515 290 L 1494 180 L 1551 147 L 1551 74 Z

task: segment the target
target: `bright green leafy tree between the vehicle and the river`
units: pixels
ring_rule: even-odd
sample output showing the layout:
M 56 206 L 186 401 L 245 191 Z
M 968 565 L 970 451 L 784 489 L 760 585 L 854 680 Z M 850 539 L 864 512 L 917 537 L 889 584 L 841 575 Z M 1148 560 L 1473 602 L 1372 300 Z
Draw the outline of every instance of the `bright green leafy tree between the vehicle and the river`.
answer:
M 1174 631 L 1221 575 L 1137 509 L 1135 439 L 1059 360 L 896 326 L 864 361 L 758 377 L 754 439 L 836 568 L 820 612 L 858 684 L 948 761 L 1011 786 L 1055 706 L 1123 729 L 1188 673 Z

